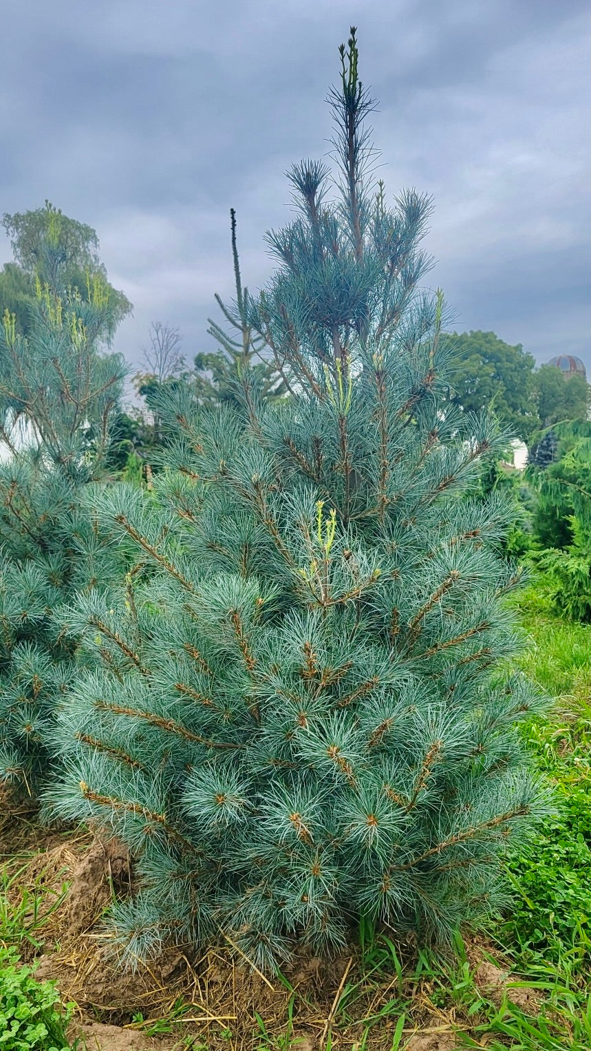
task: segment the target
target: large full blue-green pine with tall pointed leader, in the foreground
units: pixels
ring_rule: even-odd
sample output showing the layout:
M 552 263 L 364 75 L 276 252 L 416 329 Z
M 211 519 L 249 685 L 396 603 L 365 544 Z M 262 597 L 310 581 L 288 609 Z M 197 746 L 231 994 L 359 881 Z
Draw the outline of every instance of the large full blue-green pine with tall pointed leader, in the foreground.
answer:
M 62 615 L 93 671 L 60 708 L 47 807 L 135 854 L 130 961 L 220 929 L 273 966 L 359 914 L 446 937 L 505 901 L 507 843 L 547 812 L 515 727 L 542 702 L 503 673 L 511 509 L 467 495 L 506 437 L 442 411 L 429 202 L 374 193 L 354 30 L 340 55 L 338 174 L 291 169 L 299 213 L 248 307 L 291 396 L 247 372 L 239 408 L 163 397 L 168 470 L 96 501 L 135 564 Z

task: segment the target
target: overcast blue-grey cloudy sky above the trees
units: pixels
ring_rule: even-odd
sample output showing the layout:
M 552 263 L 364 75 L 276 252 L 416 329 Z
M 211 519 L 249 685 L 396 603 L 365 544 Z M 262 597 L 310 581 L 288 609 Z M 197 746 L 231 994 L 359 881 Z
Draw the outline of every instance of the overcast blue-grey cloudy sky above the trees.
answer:
M 292 161 L 328 151 L 323 100 L 358 26 L 380 174 L 435 199 L 427 247 L 457 327 L 591 372 L 591 0 L 1 0 L 0 211 L 45 198 L 93 226 L 150 321 L 211 349 L 289 218 Z M 0 263 L 9 259 L 0 241 Z

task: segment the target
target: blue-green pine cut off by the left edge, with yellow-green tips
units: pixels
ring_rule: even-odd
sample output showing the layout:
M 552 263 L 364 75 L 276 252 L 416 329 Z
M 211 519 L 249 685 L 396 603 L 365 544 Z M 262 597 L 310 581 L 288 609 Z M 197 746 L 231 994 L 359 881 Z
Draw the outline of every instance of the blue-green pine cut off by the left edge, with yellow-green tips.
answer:
M 28 334 L 8 311 L 0 328 L 0 778 L 28 790 L 75 673 L 52 614 L 112 564 L 81 498 L 104 470 L 125 373 L 101 353 L 108 290 L 99 276 L 86 296 L 60 286 L 60 246 L 44 248 L 59 291 L 38 277 Z

